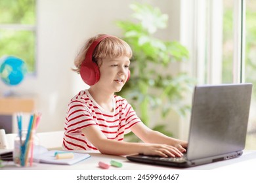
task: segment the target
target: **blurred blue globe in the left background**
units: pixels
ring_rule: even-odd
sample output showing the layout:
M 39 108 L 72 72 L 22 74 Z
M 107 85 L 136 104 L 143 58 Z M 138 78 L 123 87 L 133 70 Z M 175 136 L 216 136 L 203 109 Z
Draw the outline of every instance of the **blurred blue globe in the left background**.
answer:
M 20 58 L 7 56 L 0 63 L 1 80 L 8 86 L 16 86 L 24 80 L 27 73 L 26 64 Z

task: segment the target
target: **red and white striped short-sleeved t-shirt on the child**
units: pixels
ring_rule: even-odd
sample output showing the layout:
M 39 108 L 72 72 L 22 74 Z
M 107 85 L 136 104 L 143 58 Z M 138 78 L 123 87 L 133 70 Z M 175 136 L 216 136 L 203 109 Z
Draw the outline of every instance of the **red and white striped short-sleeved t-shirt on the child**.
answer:
M 68 105 L 63 148 L 97 150 L 81 132 L 81 129 L 90 125 L 97 125 L 108 139 L 123 141 L 123 136 L 131 131 L 131 127 L 141 121 L 126 99 L 114 95 L 113 106 L 114 112 L 104 110 L 91 97 L 88 90 L 75 95 Z

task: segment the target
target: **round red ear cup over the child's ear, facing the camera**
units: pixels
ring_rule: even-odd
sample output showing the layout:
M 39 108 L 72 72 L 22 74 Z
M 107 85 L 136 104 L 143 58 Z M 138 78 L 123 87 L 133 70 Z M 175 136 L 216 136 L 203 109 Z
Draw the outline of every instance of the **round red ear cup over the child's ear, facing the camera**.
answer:
M 80 75 L 86 84 L 93 86 L 100 79 L 100 70 L 95 62 L 85 60 L 80 68 Z

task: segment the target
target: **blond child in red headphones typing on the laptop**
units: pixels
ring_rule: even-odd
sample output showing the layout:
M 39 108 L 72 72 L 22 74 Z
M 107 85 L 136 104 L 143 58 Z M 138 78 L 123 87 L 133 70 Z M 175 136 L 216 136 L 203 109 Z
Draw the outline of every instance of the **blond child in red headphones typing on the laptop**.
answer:
M 126 99 L 115 95 L 129 79 L 132 51 L 127 42 L 110 35 L 96 35 L 81 49 L 74 64 L 90 86 L 68 105 L 63 148 L 99 150 L 102 154 L 144 154 L 181 157 L 187 142 L 146 127 Z M 125 142 L 133 131 L 143 142 Z

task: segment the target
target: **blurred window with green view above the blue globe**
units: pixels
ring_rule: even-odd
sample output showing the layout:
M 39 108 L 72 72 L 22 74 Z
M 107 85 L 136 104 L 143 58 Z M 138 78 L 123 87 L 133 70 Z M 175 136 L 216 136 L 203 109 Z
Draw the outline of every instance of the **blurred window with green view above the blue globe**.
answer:
M 35 71 L 35 0 L 0 1 L 0 58 L 16 56 Z

